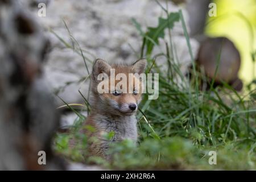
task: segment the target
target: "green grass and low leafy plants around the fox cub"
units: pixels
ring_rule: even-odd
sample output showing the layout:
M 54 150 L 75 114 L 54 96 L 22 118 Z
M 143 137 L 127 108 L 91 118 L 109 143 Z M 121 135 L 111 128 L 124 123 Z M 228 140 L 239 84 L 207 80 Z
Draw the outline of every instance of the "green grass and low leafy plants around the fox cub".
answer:
M 170 21 L 177 20 L 171 19 L 167 9 L 162 9 Z M 148 28 L 150 34 L 143 32 L 139 23 L 133 19 L 142 36 L 141 57 L 148 60 L 147 72 L 159 73 L 159 98 L 148 100 L 145 95 L 138 111 L 137 146 L 129 140 L 113 144 L 109 150 L 114 158 L 111 163 L 101 158 L 83 158 L 80 151 L 86 151 L 86 137 L 77 131 L 84 122 L 84 116 L 77 114 L 71 134 L 56 134 L 54 148 L 57 153 L 77 162 L 97 163 L 110 169 L 256 169 L 256 91 L 255 85 L 252 86 L 255 83 L 242 93 L 237 93 L 225 83 L 224 88 L 211 86 L 210 90 L 200 90 L 200 84 L 209 81 L 195 69 L 194 55 L 181 11 L 172 15 L 179 15 L 183 24 L 193 63 L 192 77 L 184 77 L 180 65 L 176 64 L 172 26 L 164 24 L 170 38 L 170 42 L 166 42 L 166 52 L 151 55 L 152 48 L 158 46 L 158 38 L 162 37 L 161 31 L 152 32 L 159 30 L 159 27 L 151 27 Z M 164 19 L 164 23 L 168 19 Z M 159 26 L 163 27 L 160 21 Z M 60 40 L 68 48 L 76 49 L 64 39 Z M 73 44 L 77 44 L 76 52 L 86 65 L 86 52 L 83 53 L 73 36 L 72 40 Z M 159 56 L 166 59 L 167 72 L 160 71 Z M 189 84 L 177 84 L 176 78 L 183 82 L 189 80 Z M 88 105 L 86 98 L 82 97 Z M 68 146 L 70 138 L 80 141 L 76 148 Z M 208 163 L 209 151 L 217 152 L 216 165 Z

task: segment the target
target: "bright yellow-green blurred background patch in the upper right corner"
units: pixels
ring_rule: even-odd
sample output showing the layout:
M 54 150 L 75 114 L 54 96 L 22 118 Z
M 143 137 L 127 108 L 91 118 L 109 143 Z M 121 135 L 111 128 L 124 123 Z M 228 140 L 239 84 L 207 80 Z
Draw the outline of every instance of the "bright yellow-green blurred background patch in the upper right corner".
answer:
M 242 61 L 239 76 L 248 84 L 256 77 L 256 63 L 253 63 L 251 57 L 251 53 L 256 52 L 256 1 L 213 2 L 217 5 L 217 16 L 207 15 L 205 34 L 213 37 L 226 36 L 234 42 L 240 51 Z

